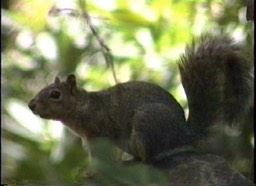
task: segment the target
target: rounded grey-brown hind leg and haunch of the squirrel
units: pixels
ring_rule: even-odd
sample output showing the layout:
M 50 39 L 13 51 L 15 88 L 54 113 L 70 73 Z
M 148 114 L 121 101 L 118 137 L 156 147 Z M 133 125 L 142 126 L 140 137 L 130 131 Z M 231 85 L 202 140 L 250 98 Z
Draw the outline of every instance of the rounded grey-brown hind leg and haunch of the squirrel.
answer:
M 188 141 L 185 117 L 177 118 L 167 104 L 149 103 L 137 108 L 132 126 L 130 151 L 143 162 L 150 162 L 159 153 Z

